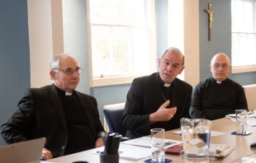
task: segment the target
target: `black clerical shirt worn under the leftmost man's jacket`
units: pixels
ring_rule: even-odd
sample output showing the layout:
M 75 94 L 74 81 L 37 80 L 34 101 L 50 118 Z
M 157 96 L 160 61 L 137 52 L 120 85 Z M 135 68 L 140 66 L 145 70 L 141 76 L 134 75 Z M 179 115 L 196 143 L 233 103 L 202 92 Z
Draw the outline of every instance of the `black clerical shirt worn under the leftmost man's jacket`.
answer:
M 95 147 L 96 137 L 92 135 L 78 95 L 75 91 L 72 95 L 65 95 L 65 91 L 58 87 L 57 90 L 63 105 L 69 137 L 64 155 L 92 149 Z

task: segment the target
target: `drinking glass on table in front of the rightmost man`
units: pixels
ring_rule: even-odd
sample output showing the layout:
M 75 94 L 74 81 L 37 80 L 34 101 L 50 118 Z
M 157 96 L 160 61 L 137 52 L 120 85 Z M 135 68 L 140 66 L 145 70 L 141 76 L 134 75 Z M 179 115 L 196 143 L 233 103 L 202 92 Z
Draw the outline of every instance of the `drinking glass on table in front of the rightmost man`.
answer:
M 236 133 L 246 133 L 246 109 L 235 109 Z

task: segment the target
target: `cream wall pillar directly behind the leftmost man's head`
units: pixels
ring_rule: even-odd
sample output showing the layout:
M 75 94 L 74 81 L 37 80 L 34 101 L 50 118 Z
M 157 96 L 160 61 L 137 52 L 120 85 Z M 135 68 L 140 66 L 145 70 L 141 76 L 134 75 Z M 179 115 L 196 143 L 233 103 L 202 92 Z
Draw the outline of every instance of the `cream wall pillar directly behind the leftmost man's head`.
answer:
M 27 0 L 31 87 L 52 83 L 50 59 L 64 52 L 62 0 Z

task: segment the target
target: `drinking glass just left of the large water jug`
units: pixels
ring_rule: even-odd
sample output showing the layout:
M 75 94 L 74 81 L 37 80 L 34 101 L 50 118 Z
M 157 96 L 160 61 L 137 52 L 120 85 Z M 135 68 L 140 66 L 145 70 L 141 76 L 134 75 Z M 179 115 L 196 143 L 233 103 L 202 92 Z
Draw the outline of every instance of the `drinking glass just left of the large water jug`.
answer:
M 152 161 L 164 162 L 164 129 L 152 128 L 150 132 Z

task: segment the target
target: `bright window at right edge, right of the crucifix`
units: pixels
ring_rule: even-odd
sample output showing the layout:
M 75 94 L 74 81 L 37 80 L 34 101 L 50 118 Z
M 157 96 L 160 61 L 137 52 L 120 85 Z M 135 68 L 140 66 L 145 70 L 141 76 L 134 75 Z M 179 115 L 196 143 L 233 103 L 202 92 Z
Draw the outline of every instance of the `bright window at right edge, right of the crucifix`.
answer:
M 232 66 L 256 65 L 256 2 L 232 0 Z

